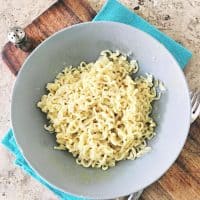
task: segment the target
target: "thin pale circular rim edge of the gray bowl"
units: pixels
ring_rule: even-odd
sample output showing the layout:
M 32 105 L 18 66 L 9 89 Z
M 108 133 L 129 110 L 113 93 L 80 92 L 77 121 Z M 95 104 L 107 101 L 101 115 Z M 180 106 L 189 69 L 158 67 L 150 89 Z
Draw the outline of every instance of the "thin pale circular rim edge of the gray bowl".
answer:
M 14 109 L 13 109 L 13 108 L 14 108 L 14 101 L 15 101 L 16 90 L 17 90 L 16 88 L 17 88 L 17 85 L 18 85 L 18 83 L 19 83 L 19 81 L 20 81 L 20 78 L 19 78 L 19 77 L 21 76 L 22 72 L 23 72 L 24 70 L 26 70 L 26 68 L 28 67 L 27 63 L 29 62 L 29 59 L 34 55 L 34 53 L 35 53 L 39 48 L 41 48 L 43 45 L 45 45 L 45 43 L 48 42 L 49 40 L 51 40 L 54 36 L 56 36 L 56 35 L 58 35 L 58 34 L 60 34 L 60 33 L 62 33 L 62 32 L 68 31 L 68 30 L 70 30 L 70 29 L 74 29 L 74 28 L 80 27 L 80 26 L 85 26 L 85 25 L 88 25 L 88 24 L 91 24 L 91 25 L 92 25 L 92 24 L 109 24 L 110 26 L 112 26 L 112 25 L 118 25 L 118 26 L 127 27 L 127 28 L 129 28 L 129 29 L 130 29 L 130 28 L 136 29 L 137 31 L 142 32 L 142 33 L 145 35 L 145 37 L 149 37 L 151 40 L 154 40 L 156 43 L 158 43 L 159 45 L 161 45 L 161 46 L 166 50 L 166 54 L 168 54 L 168 56 L 171 56 L 171 57 L 172 57 L 172 61 L 174 62 L 174 65 L 176 65 L 176 67 L 177 67 L 177 69 L 178 69 L 178 71 L 179 71 L 178 73 L 180 74 L 181 79 L 183 80 L 183 82 L 184 82 L 184 84 L 185 84 L 185 86 L 186 86 L 186 88 L 187 88 L 186 93 L 187 93 L 187 100 L 189 100 L 189 104 L 188 104 L 189 113 L 191 113 L 191 104 L 190 104 L 190 96 L 189 96 L 189 87 L 188 87 L 188 83 L 187 83 L 187 81 L 186 81 L 186 77 L 185 77 L 185 75 L 184 75 L 184 73 L 183 73 L 183 70 L 181 69 L 180 65 L 178 64 L 178 62 L 177 62 L 176 59 L 174 58 L 174 56 L 170 53 L 170 51 L 169 51 L 160 41 L 158 41 L 157 39 L 155 39 L 154 37 L 152 37 L 151 35 L 149 35 L 149 34 L 146 33 L 145 31 L 140 30 L 139 28 L 133 27 L 133 26 L 131 26 L 131 25 L 127 25 L 127 24 L 124 24 L 124 23 L 121 23 L 121 22 L 114 22 L 114 21 L 90 21 L 90 22 L 83 22 L 83 23 L 75 24 L 75 25 L 66 27 L 66 28 L 64 28 L 64 29 L 61 29 L 61 30 L 55 32 L 54 34 L 52 34 L 51 36 L 49 36 L 48 38 L 46 38 L 44 41 L 42 41 L 42 42 L 30 53 L 30 55 L 26 58 L 26 60 L 24 61 L 24 63 L 22 64 L 22 66 L 21 66 L 21 68 L 20 68 L 20 70 L 19 70 L 19 72 L 18 72 L 16 81 L 15 81 L 15 84 L 14 84 L 14 87 L 13 87 L 13 90 L 12 90 L 13 92 L 12 92 L 12 98 L 11 98 L 11 99 L 12 99 L 12 101 L 11 101 L 11 127 L 12 127 L 12 129 L 13 129 L 13 132 L 14 132 L 13 135 L 14 135 L 15 141 L 16 141 L 16 143 L 17 143 L 17 145 L 18 145 L 18 148 L 19 148 L 19 150 L 21 151 L 21 153 L 22 153 L 22 155 L 23 155 L 25 161 L 28 163 L 28 165 L 29 165 L 37 174 L 39 174 L 40 177 L 42 177 L 47 183 L 49 183 L 51 186 L 55 187 L 56 189 L 60 190 L 61 192 L 64 192 L 64 193 L 69 194 L 69 195 L 73 195 L 73 196 L 75 196 L 75 197 L 79 197 L 79 198 L 88 198 L 88 199 L 95 199 L 95 200 L 97 200 L 97 199 L 99 199 L 99 198 L 97 197 L 98 194 L 96 195 L 96 197 L 90 196 L 89 194 L 87 194 L 87 195 L 84 194 L 83 196 L 80 196 L 80 195 L 71 193 L 71 192 L 69 192 L 69 191 L 65 191 L 64 188 L 57 187 L 56 185 L 54 185 L 54 183 L 52 183 L 51 181 L 48 180 L 48 177 L 43 176 L 42 173 L 40 173 L 40 169 L 35 168 L 35 167 L 32 165 L 31 160 L 30 160 L 30 159 L 27 159 L 26 152 L 23 151 L 23 149 L 22 149 L 22 147 L 21 147 L 21 145 L 20 145 L 19 138 L 17 137 L 17 135 L 16 135 L 16 133 L 15 133 L 15 127 L 14 127 L 14 125 L 13 125 L 13 124 L 14 124 L 14 114 L 13 114 L 13 113 L 14 113 L 14 111 L 13 111 Z M 126 196 L 126 195 L 128 195 L 128 194 L 131 194 L 131 193 L 137 192 L 137 191 L 139 191 L 139 190 L 142 190 L 142 189 L 148 187 L 149 185 L 153 184 L 154 182 L 156 182 L 158 179 L 160 179 L 160 178 L 169 170 L 169 168 L 172 166 L 172 164 L 176 161 L 176 159 L 177 159 L 178 156 L 180 155 L 180 153 L 181 153 L 181 151 L 182 151 L 182 149 L 183 149 L 183 146 L 184 146 L 184 144 L 185 144 L 185 142 L 186 142 L 187 136 L 188 136 L 188 134 L 189 134 L 189 128 L 190 128 L 190 114 L 188 115 L 188 118 L 187 118 L 187 129 L 185 130 L 185 134 L 182 135 L 182 137 L 181 137 L 181 138 L 182 138 L 181 148 L 178 150 L 177 155 L 174 155 L 174 156 L 173 156 L 172 161 L 168 164 L 168 166 L 165 167 L 165 170 L 163 170 L 162 173 L 160 173 L 159 176 L 157 176 L 156 178 L 154 177 L 153 179 L 151 179 L 151 181 L 148 181 L 148 183 L 146 183 L 146 184 L 143 185 L 143 186 L 141 186 L 141 185 L 138 186 L 138 187 L 136 188 L 136 191 L 133 191 L 133 190 L 129 189 L 128 193 L 123 193 L 123 192 L 122 192 L 122 193 L 120 193 L 120 195 L 118 194 L 118 196 L 116 196 L 115 194 L 114 194 L 114 195 L 110 195 L 110 196 L 108 196 L 108 195 L 103 196 L 103 195 L 102 195 L 102 197 L 105 197 L 105 198 L 103 198 L 103 199 L 113 199 L 113 198 L 118 198 L 118 197 L 121 197 L 121 196 Z M 127 190 L 126 190 L 126 191 L 127 191 Z

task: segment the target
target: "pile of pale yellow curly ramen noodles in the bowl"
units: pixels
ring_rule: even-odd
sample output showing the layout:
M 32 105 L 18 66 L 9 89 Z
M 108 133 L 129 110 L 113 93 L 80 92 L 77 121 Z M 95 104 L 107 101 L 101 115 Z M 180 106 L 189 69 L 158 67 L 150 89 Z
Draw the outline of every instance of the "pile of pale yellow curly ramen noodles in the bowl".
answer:
M 84 167 L 115 166 L 151 148 L 156 123 L 150 116 L 159 98 L 152 75 L 136 76 L 135 60 L 109 50 L 95 62 L 68 66 L 48 83 L 38 107 L 46 113 L 58 146 Z

